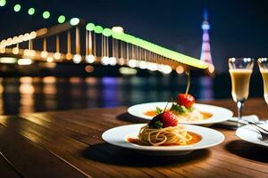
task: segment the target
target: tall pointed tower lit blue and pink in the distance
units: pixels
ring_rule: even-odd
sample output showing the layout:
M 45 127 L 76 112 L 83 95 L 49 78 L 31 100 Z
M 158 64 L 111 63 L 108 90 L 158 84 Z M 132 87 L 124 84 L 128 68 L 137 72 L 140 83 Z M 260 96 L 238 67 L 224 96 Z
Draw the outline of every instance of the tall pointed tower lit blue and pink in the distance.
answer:
M 202 43 L 202 51 L 201 51 L 201 61 L 205 61 L 207 63 L 213 64 L 211 53 L 210 53 L 210 44 L 209 44 L 209 30 L 210 26 L 207 20 L 207 12 L 204 11 L 204 21 L 202 23 L 203 29 L 203 43 Z

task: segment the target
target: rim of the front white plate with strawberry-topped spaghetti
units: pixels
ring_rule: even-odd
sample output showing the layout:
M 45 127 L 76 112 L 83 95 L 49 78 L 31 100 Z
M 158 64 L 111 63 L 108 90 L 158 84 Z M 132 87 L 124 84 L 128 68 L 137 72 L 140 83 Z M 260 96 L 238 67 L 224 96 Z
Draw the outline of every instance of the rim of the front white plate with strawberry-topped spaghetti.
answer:
M 192 145 L 187 145 L 187 146 L 180 146 L 180 145 L 178 145 L 178 146 L 172 146 L 172 147 L 161 147 L 161 146 L 160 147 L 156 147 L 156 146 L 140 146 L 140 145 L 137 145 L 137 144 L 134 144 L 134 143 L 127 142 L 126 140 L 124 140 L 124 142 L 126 142 L 126 144 L 119 145 L 119 144 L 116 144 L 114 142 L 109 142 L 109 141 L 107 141 L 107 139 L 105 139 L 105 134 L 108 134 L 109 132 L 112 132 L 113 129 L 120 129 L 121 127 L 128 127 L 128 126 L 139 126 L 139 127 L 141 127 L 143 125 L 147 125 L 147 124 L 121 125 L 121 126 L 116 126 L 116 127 L 110 128 L 110 129 L 106 130 L 102 134 L 102 139 L 105 142 L 108 142 L 109 144 L 112 144 L 112 145 L 117 146 L 117 147 L 125 148 L 125 149 L 142 150 L 142 151 L 157 151 L 157 152 L 173 152 L 173 151 L 180 152 L 180 151 L 188 151 L 188 150 L 202 150 L 202 149 L 211 148 L 211 147 L 214 147 L 214 146 L 216 146 L 218 144 L 221 144 L 225 140 L 225 136 L 221 132 L 219 132 L 219 131 L 217 131 L 215 129 L 212 129 L 212 128 L 207 128 L 205 126 L 199 126 L 199 125 L 186 125 L 186 126 L 188 126 L 188 127 L 196 127 L 196 128 L 199 128 L 199 129 L 205 129 L 206 131 L 214 132 L 214 134 L 218 134 L 218 136 L 219 136 L 219 142 L 214 142 L 214 143 L 203 145 L 203 146 L 199 146 L 199 147 L 194 147 Z M 185 124 L 181 124 L 181 125 L 185 125 Z M 197 133 L 197 134 L 199 134 L 199 133 Z M 125 135 L 124 138 L 126 136 L 127 135 Z M 203 142 L 205 142 L 205 141 L 203 141 Z M 165 148 L 165 149 L 163 149 L 163 148 Z

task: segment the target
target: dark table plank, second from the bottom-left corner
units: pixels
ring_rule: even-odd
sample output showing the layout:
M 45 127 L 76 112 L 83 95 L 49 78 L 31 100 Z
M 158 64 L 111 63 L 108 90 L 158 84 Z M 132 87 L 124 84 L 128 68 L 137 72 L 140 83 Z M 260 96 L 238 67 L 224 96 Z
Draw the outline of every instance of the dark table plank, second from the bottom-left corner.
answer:
M 22 130 L 23 132 L 23 130 Z M 0 151 L 25 177 L 86 177 L 34 142 L 0 125 Z

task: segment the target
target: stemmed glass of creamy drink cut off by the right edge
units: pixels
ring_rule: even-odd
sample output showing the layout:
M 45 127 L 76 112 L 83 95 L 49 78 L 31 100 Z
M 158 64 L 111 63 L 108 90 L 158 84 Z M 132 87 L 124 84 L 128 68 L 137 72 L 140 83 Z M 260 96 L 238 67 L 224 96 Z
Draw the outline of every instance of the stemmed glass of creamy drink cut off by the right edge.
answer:
M 264 100 L 268 104 L 268 59 L 259 58 L 258 65 L 264 81 Z

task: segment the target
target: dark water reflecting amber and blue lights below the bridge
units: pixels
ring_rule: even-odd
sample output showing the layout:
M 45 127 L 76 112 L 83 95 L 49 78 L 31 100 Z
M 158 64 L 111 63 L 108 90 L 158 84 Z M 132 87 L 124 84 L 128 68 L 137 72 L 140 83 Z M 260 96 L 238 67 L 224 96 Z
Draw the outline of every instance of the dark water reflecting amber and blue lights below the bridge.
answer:
M 0 78 L 0 114 L 168 101 L 185 89 L 182 76 L 5 77 Z M 190 93 L 199 101 L 230 98 L 230 77 L 193 77 Z M 249 97 L 263 97 L 261 77 L 251 78 Z

